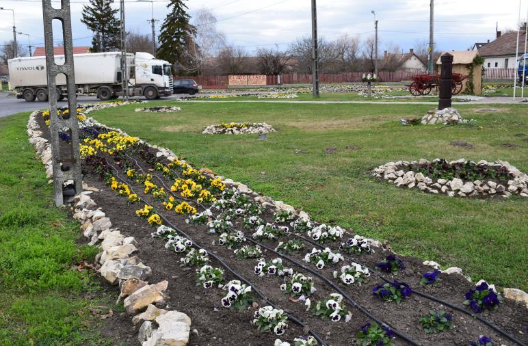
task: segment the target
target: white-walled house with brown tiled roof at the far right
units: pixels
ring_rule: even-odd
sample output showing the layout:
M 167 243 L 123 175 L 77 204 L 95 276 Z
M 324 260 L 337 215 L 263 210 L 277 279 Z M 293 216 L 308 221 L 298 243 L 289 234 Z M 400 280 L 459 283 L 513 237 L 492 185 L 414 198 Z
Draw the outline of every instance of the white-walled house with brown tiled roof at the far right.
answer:
M 525 27 L 519 33 L 519 55 L 523 55 L 527 40 Z M 497 38 L 479 49 L 484 57 L 484 68 L 514 68 L 516 67 L 517 31 L 502 34 L 497 31 Z

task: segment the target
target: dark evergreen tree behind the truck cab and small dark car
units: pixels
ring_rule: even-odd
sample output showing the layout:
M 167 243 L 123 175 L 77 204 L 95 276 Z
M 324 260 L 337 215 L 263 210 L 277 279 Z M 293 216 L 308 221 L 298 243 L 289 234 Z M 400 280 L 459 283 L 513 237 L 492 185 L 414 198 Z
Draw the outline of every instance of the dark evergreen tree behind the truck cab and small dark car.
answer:
M 161 25 L 159 34 L 158 57 L 174 66 L 189 66 L 193 62 L 189 51 L 196 50 L 194 36 L 196 27 L 189 23 L 191 16 L 185 12 L 185 0 L 170 0 L 167 7 L 170 13 Z

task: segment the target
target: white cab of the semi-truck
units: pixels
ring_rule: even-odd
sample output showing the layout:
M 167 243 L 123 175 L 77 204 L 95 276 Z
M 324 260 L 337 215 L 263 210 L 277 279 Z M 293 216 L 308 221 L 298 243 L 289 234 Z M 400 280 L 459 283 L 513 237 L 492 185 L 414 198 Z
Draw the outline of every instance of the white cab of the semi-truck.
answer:
M 172 94 L 172 67 L 165 60 L 156 59 L 152 54 L 137 52 L 135 54 L 135 90 L 140 89 L 149 100 Z M 140 92 L 134 92 L 139 94 Z

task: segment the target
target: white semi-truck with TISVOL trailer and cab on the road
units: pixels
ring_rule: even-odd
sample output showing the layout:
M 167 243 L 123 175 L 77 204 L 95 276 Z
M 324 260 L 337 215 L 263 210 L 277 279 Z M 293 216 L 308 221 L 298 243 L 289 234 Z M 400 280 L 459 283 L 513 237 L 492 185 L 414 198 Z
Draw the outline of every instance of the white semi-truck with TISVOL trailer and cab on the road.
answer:
M 64 64 L 64 55 L 55 55 L 56 64 Z M 73 55 L 77 94 L 96 94 L 101 101 L 123 96 L 121 53 Z M 129 96 L 149 100 L 172 94 L 171 66 L 148 53 L 127 54 Z M 48 100 L 46 57 L 17 57 L 8 61 L 11 87 L 17 98 L 33 102 Z M 57 100 L 66 96 L 66 77 L 57 76 Z

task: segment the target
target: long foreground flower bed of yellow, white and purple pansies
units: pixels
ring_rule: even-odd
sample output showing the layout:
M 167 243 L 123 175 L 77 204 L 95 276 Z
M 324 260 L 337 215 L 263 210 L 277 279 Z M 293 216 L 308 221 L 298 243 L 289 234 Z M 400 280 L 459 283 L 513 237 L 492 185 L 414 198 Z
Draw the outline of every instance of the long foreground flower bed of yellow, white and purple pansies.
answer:
M 37 148 L 36 138 L 49 138 L 44 121 L 38 112 L 30 120 Z M 81 130 L 83 181 L 94 187 L 90 200 L 111 219 L 109 227 L 121 230 L 118 241 L 133 237 L 127 256 L 148 259 L 153 282 L 167 280 L 161 288 L 170 302 L 163 292 L 153 299 L 163 310 L 190 317 L 190 326 L 183 325 L 189 345 L 469 345 L 483 336 L 494 345 L 527 341 L 524 303 L 499 298 L 506 291 L 491 291 L 491 285 L 475 286 L 458 275 L 460 269 L 440 271 L 430 263 L 438 269 L 432 271 L 352 228 L 313 222 L 283 202 L 91 118 L 81 121 Z M 76 217 L 86 212 L 83 205 L 76 208 Z M 94 242 L 109 237 L 99 228 L 91 231 Z M 119 267 L 120 248 L 103 239 L 107 250 L 98 259 L 115 258 Z M 109 276 L 112 269 L 105 270 Z M 120 280 L 116 276 L 114 283 Z M 483 308 L 477 312 L 472 304 Z M 140 343 L 148 340 L 143 345 L 162 345 L 153 337 L 169 337 L 174 328 L 166 317 L 149 314 L 161 312 L 145 308 L 126 308 L 135 329 L 119 317 L 122 327 L 114 329 L 138 331 Z M 449 328 L 425 321 L 432 310 L 434 320 L 446 317 Z M 173 311 L 163 313 L 176 317 Z

